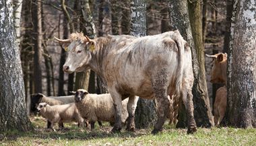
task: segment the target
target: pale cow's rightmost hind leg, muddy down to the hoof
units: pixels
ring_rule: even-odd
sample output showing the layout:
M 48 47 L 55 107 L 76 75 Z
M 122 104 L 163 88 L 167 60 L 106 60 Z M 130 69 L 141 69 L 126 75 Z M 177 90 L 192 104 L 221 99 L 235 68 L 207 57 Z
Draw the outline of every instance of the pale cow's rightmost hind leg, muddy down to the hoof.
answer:
M 193 134 L 197 131 L 197 125 L 195 124 L 193 95 L 191 89 L 183 89 L 183 103 L 187 112 L 187 134 Z

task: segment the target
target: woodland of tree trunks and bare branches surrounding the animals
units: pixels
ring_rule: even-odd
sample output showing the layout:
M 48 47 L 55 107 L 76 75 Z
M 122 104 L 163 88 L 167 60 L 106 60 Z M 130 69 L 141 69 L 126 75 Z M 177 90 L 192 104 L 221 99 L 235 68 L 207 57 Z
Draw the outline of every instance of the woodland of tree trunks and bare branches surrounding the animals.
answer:
M 253 0 L 15 0 L 0 2 L 0 10 L 0 131 L 33 129 L 26 115 L 31 115 L 31 98 L 36 93 L 67 96 L 81 88 L 91 94 L 107 92 L 94 71 L 63 72 L 67 52 L 54 37 L 66 39 L 73 32 L 83 32 L 89 38 L 108 34 L 139 37 L 174 30 L 181 32 L 192 50 L 197 126 L 214 126 L 216 90 L 225 85 L 228 104 L 221 125 L 256 126 L 256 2 Z M 9 20 L 5 22 L 7 17 Z M 15 49 L 5 52 L 6 48 Z M 213 59 L 205 54 L 218 52 L 228 54 L 226 84 L 210 83 Z M 17 79 L 14 83 L 13 78 Z M 185 128 L 184 105 L 175 104 L 179 104 L 174 109 L 179 113 L 178 123 L 174 119 L 170 123 Z M 156 103 L 139 99 L 135 116 L 136 128 L 152 126 L 156 122 Z

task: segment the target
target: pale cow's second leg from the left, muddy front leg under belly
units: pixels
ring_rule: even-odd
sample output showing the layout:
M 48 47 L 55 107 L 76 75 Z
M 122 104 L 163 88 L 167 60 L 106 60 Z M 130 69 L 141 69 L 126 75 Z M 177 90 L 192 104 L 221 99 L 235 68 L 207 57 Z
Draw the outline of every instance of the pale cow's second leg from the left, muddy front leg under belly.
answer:
M 134 131 L 135 130 L 135 122 L 134 122 L 134 115 L 135 110 L 137 107 L 137 101 L 139 100 L 138 96 L 129 96 L 129 100 L 127 103 L 127 111 L 128 111 L 128 120 L 127 120 L 127 131 Z

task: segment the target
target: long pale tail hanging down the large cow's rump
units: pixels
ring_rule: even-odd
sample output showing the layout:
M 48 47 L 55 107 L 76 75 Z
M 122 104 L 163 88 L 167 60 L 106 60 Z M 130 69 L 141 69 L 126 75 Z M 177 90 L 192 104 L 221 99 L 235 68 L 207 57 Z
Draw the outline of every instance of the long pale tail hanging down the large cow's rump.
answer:
M 174 41 L 178 47 L 178 69 L 177 69 L 177 79 L 176 79 L 176 95 L 180 96 L 181 88 L 182 88 L 182 80 L 183 80 L 183 69 L 184 69 L 184 45 L 183 45 L 183 37 L 179 33 L 179 30 L 174 31 Z

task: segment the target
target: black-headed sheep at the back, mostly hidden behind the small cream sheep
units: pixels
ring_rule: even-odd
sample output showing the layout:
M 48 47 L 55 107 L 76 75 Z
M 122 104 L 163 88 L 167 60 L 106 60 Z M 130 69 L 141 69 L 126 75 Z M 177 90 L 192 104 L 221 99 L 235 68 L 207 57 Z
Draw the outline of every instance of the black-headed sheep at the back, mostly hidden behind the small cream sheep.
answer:
M 61 105 L 61 104 L 69 104 L 74 102 L 74 96 L 49 96 L 46 97 L 44 94 L 34 94 L 32 95 L 31 98 L 31 104 L 30 104 L 30 110 L 32 112 L 37 112 L 36 106 L 41 103 L 41 102 L 46 102 L 50 106 L 55 106 L 55 105 Z M 86 123 L 87 125 L 87 123 Z M 63 123 L 59 123 L 59 126 L 64 128 Z M 51 122 L 47 121 L 47 128 L 51 127 Z

